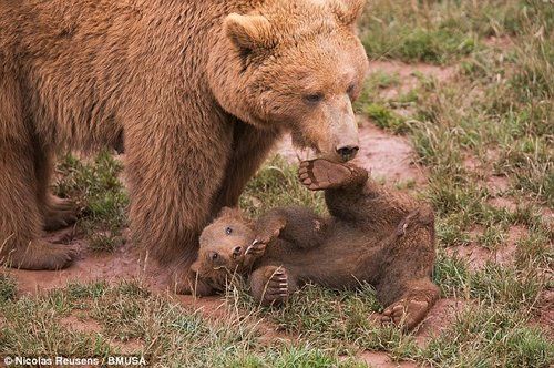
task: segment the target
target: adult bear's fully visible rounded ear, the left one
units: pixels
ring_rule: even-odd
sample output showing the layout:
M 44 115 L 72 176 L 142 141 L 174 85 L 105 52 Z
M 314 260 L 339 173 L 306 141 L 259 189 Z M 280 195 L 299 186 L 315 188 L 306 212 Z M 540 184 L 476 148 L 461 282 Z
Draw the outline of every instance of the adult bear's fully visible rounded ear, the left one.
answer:
M 225 18 L 224 30 L 240 54 L 247 55 L 259 49 L 271 49 L 277 44 L 271 24 L 263 16 L 230 13 Z

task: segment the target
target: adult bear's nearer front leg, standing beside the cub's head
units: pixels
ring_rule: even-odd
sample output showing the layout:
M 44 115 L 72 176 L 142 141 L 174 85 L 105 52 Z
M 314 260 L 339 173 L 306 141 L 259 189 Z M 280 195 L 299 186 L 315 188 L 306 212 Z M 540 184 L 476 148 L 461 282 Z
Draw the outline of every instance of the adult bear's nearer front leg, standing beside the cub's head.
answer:
M 198 235 L 223 181 L 230 129 L 216 120 L 154 116 L 125 131 L 131 231 L 135 242 L 186 284 Z M 175 290 L 182 292 L 181 286 Z

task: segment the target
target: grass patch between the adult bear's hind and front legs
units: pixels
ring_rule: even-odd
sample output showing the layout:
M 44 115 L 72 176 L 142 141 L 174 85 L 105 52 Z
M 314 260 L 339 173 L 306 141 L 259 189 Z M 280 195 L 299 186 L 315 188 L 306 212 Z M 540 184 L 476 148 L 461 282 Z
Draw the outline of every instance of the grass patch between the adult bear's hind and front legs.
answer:
M 93 251 L 113 251 L 122 243 L 126 226 L 129 197 L 119 180 L 123 165 L 107 152 L 93 161 L 66 154 L 58 165 L 59 196 L 75 201 L 81 209 L 80 226 L 85 231 Z

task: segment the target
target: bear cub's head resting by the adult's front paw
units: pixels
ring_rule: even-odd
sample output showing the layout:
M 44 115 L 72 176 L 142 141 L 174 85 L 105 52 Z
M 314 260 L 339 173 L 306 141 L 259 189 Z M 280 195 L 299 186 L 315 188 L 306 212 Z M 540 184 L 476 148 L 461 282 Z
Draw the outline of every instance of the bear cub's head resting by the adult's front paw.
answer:
M 201 235 L 198 258 L 192 269 L 199 277 L 242 272 L 245 252 L 254 241 L 252 224 L 239 209 L 225 207 Z

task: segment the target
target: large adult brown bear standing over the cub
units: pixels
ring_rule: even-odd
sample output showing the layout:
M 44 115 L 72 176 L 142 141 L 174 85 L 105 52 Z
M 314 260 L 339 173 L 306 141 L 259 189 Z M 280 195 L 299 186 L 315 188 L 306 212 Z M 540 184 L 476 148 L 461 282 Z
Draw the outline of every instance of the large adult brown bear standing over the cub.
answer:
M 367 71 L 362 0 L 0 2 L 0 253 L 58 269 L 41 239 L 73 219 L 48 191 L 61 149 L 124 136 L 135 242 L 188 265 L 197 236 L 237 203 L 271 144 L 348 160 Z

